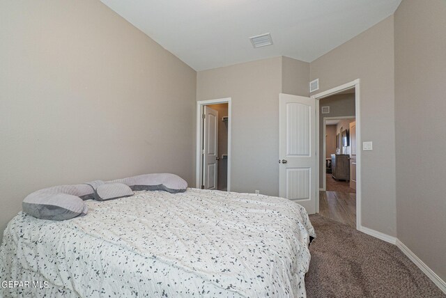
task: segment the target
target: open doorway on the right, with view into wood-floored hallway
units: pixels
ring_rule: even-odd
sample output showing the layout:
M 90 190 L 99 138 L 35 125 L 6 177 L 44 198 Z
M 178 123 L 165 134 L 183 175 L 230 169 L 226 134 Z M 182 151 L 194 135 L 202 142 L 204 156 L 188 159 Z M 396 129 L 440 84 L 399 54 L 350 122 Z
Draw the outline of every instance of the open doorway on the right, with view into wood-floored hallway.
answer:
M 318 107 L 318 212 L 360 227 L 359 80 L 314 96 Z

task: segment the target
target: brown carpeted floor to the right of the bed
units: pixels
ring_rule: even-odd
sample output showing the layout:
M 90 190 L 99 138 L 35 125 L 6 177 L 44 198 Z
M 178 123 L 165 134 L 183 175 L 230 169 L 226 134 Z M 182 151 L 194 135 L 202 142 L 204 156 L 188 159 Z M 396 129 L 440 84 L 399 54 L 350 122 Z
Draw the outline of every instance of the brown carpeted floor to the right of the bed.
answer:
M 305 276 L 308 298 L 446 297 L 392 244 L 321 215 L 310 215 L 317 238 Z

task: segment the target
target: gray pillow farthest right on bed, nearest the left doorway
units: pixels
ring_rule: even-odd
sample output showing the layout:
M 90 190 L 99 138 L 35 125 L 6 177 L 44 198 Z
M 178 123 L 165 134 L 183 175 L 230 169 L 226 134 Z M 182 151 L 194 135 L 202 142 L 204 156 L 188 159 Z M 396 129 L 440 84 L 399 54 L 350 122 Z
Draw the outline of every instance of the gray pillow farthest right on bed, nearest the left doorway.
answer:
M 130 186 L 133 191 L 164 190 L 176 194 L 187 189 L 187 182 L 183 178 L 169 173 L 137 175 L 111 182 L 124 183 Z

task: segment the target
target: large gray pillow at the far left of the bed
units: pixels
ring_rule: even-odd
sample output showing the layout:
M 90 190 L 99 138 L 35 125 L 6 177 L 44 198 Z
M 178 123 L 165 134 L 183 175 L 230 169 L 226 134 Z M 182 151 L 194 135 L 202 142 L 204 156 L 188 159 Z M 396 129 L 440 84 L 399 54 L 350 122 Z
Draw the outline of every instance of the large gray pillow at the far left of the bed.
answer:
M 74 187 L 74 185 L 73 185 Z M 72 188 L 74 189 L 74 188 Z M 85 215 L 89 208 L 79 196 L 52 189 L 34 191 L 24 198 L 23 211 L 38 219 L 63 221 Z

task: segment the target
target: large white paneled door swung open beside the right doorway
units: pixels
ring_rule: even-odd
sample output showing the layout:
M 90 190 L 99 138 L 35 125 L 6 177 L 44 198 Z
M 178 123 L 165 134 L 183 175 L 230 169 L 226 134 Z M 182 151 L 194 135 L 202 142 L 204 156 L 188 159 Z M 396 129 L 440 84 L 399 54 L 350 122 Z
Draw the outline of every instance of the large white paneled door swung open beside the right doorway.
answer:
M 316 100 L 279 95 L 279 196 L 316 212 Z

